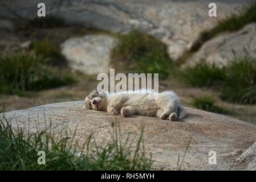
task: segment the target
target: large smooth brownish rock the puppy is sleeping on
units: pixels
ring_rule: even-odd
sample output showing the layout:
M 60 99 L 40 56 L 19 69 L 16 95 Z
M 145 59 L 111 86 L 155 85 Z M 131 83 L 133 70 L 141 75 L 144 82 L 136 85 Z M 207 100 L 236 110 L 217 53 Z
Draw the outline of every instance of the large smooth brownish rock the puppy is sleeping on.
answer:
M 177 168 L 178 156 L 182 160 L 186 149 L 181 169 L 246 169 L 246 163 L 235 159 L 256 140 L 256 125 L 192 108 L 188 108 L 188 116 L 184 119 L 169 122 L 137 115 L 123 118 L 103 111 L 82 110 L 82 107 L 83 101 L 62 102 L 10 111 L 5 115 L 12 118 L 14 127 L 24 127 L 25 132 L 28 128 L 30 132 L 43 130 L 50 121 L 54 134 L 65 127 L 70 131 L 77 127 L 79 143 L 85 142 L 93 132 L 96 142 L 105 144 L 111 138 L 111 123 L 115 121 L 120 124 L 121 138 L 129 134 L 136 142 L 141 125 L 144 125 L 145 150 L 152 153 L 155 167 L 166 170 Z M 216 151 L 216 165 L 208 163 L 209 151 Z

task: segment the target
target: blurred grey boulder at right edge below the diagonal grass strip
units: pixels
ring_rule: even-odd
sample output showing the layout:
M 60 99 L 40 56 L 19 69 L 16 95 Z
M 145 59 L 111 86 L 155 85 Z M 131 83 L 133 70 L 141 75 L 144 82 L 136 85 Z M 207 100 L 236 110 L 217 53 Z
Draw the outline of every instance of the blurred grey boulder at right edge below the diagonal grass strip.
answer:
M 188 61 L 189 65 L 200 63 L 201 60 L 209 64 L 225 67 L 235 57 L 250 55 L 256 58 L 256 23 L 247 24 L 237 32 L 227 32 L 209 40 Z

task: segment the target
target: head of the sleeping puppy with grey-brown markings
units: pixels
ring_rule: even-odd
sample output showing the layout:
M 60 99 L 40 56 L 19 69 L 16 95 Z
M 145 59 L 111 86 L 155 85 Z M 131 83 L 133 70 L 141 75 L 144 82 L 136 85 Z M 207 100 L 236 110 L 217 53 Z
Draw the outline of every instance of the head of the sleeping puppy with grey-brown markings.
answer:
M 97 90 L 93 90 L 86 100 L 84 100 L 83 109 L 103 110 L 104 108 L 104 97 L 105 93 L 99 93 Z

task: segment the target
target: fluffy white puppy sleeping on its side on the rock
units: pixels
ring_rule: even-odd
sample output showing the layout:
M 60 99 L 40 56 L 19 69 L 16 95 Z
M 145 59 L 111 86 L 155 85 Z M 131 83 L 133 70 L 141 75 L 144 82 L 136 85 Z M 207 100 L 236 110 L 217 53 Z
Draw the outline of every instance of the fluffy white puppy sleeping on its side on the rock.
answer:
M 154 95 L 152 95 L 154 94 Z M 155 99 L 149 99 L 154 96 Z M 150 90 L 137 90 L 117 93 L 99 93 L 93 90 L 84 101 L 83 109 L 107 111 L 109 114 L 121 113 L 123 117 L 134 114 L 148 115 L 174 121 L 186 116 L 186 109 L 173 91 L 153 93 Z

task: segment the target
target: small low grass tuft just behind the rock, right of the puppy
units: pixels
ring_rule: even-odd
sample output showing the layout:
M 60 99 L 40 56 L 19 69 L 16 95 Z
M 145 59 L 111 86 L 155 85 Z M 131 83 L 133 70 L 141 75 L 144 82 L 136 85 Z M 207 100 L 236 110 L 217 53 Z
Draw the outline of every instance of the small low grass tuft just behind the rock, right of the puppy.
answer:
M 194 98 L 192 105 L 195 106 L 197 109 L 206 110 L 213 113 L 227 113 L 225 109 L 216 105 L 216 101 L 211 96 Z

